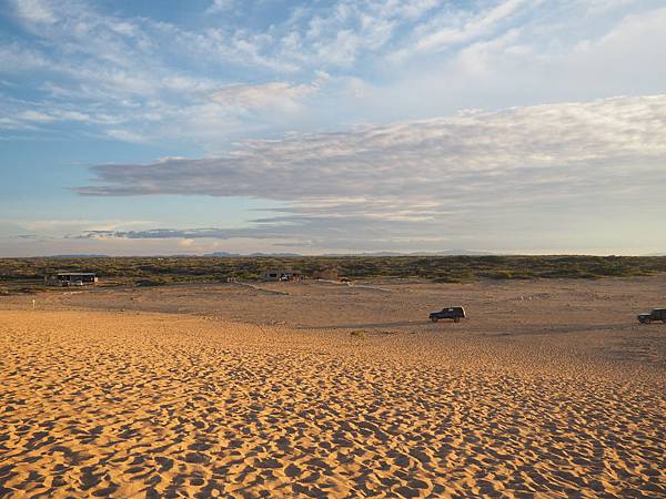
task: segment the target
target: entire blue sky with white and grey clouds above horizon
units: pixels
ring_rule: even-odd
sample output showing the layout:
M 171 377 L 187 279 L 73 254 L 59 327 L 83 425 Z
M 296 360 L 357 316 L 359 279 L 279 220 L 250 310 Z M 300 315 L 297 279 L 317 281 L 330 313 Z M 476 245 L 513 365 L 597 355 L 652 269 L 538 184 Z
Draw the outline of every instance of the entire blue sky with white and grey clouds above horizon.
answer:
M 0 256 L 666 253 L 666 2 L 0 0 Z

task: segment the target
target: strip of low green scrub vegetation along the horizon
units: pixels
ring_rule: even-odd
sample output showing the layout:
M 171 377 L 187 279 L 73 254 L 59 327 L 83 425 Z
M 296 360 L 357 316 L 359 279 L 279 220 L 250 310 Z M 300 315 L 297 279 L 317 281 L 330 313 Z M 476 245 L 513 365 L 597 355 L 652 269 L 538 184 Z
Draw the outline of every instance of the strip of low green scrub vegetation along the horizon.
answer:
M 159 286 L 256 279 L 269 268 L 305 278 L 422 278 L 440 283 L 488 279 L 599 278 L 666 272 L 666 256 L 302 256 L 0 258 L 0 292 L 29 291 L 57 272 L 94 272 L 104 285 Z

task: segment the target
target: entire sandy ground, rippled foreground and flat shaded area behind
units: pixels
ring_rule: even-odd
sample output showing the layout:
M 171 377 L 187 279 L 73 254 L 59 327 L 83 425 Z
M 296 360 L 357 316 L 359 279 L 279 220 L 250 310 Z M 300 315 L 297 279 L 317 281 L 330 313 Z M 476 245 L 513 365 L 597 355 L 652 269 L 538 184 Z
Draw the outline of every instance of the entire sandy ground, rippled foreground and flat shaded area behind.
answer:
M 3 298 L 0 496 L 666 496 L 665 277 L 373 286 Z

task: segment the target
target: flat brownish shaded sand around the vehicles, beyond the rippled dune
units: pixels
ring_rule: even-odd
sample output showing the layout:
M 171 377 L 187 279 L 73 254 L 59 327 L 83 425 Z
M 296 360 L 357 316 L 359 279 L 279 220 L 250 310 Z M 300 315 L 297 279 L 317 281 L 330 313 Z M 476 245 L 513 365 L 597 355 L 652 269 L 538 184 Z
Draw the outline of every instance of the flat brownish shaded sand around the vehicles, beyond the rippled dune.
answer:
M 0 297 L 1 309 L 123 310 L 188 314 L 262 327 L 354 332 L 366 335 L 446 335 L 506 348 L 556 346 L 585 359 L 666 368 L 660 324 L 638 324 L 636 315 L 666 307 L 666 274 L 601 281 L 544 279 L 473 284 L 410 281 L 361 286 L 319 282 L 259 283 L 254 287 L 176 285 L 162 287 L 54 288 L 42 295 Z M 432 324 L 430 312 L 464 305 L 461 324 Z

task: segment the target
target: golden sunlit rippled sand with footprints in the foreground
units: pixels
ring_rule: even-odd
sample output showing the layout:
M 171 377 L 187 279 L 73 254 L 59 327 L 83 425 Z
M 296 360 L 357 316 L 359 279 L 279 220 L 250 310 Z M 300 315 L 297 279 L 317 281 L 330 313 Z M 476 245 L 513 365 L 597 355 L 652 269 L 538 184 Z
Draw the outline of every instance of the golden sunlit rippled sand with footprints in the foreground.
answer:
M 0 352 L 0 496 L 666 496 L 664 369 L 547 340 L 3 310 Z

